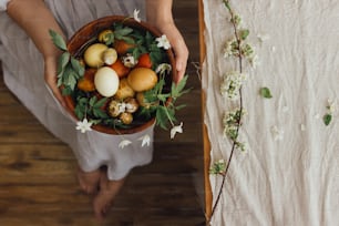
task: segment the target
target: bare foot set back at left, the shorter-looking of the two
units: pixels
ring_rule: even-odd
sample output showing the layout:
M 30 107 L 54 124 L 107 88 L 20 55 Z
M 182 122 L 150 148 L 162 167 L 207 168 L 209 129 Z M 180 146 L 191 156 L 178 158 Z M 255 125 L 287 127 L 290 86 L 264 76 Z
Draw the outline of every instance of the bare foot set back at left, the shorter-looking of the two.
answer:
M 82 191 L 88 194 L 93 194 L 99 187 L 100 170 L 93 172 L 84 172 L 78 167 L 78 181 Z

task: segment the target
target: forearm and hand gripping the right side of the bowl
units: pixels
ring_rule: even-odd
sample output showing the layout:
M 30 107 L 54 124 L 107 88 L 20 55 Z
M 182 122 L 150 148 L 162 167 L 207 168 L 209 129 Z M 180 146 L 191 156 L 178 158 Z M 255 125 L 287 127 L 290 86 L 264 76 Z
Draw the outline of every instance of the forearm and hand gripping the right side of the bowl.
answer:
M 176 60 L 176 78 L 174 82 L 179 82 L 186 71 L 188 60 L 188 49 L 177 30 L 172 17 L 172 0 L 146 0 L 147 21 L 160 32 L 166 34 Z

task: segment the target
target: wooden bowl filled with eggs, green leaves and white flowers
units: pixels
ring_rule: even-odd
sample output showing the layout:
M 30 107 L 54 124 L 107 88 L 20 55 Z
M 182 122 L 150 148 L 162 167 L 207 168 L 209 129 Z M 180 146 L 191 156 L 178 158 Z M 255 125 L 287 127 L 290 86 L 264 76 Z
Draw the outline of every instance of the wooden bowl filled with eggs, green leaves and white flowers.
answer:
M 112 16 L 81 28 L 65 43 L 50 30 L 62 54 L 58 85 L 76 130 L 131 134 L 156 122 L 171 137 L 182 132 L 175 125 L 176 100 L 187 75 L 175 84 L 174 54 L 165 35 L 133 18 Z

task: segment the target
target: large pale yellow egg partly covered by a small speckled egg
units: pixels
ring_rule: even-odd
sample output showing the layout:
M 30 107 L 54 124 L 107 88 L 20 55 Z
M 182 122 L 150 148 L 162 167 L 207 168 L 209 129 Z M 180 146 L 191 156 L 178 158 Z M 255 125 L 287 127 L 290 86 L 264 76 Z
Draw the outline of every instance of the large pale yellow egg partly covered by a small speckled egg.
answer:
M 83 54 L 85 63 L 91 68 L 102 66 L 104 64 L 103 53 L 107 48 L 107 45 L 102 43 L 94 43 L 90 45 Z

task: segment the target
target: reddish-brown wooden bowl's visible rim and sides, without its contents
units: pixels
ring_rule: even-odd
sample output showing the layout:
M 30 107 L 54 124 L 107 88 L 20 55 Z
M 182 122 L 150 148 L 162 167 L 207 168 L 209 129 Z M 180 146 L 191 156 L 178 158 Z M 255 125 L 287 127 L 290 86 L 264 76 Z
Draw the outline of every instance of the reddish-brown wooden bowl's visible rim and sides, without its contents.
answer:
M 141 30 L 147 30 L 150 31 L 154 37 L 161 37 L 162 34 L 152 25 L 148 23 L 142 21 L 137 22 L 133 18 L 126 18 L 122 16 L 109 16 L 104 18 L 100 18 L 97 20 L 94 20 L 84 27 L 82 27 L 76 33 L 73 34 L 73 37 L 68 41 L 68 50 L 69 52 L 74 55 L 79 56 L 83 53 L 83 51 L 92 44 L 93 42 L 96 41 L 97 34 L 112 27 L 114 22 L 122 22 L 125 25 L 129 25 L 134 29 L 141 29 Z M 172 65 L 172 69 L 175 69 L 175 59 L 172 50 L 167 50 L 167 58 L 168 58 L 168 63 Z M 171 81 L 166 81 L 166 84 L 171 85 L 173 78 L 175 76 L 176 71 L 172 70 L 171 74 Z M 74 113 L 75 109 L 75 103 L 74 100 L 71 95 L 65 95 L 64 96 L 65 102 L 66 102 L 66 107 L 69 113 L 76 120 L 79 120 Z M 141 132 L 143 130 L 146 130 L 147 127 L 152 126 L 155 123 L 155 117 L 146 121 L 143 124 L 133 126 L 131 129 L 112 129 L 105 125 L 93 125 L 92 129 L 102 133 L 107 133 L 107 134 L 133 134 L 136 132 Z

